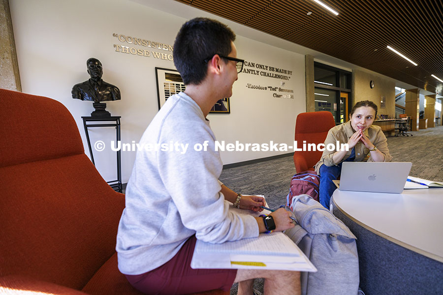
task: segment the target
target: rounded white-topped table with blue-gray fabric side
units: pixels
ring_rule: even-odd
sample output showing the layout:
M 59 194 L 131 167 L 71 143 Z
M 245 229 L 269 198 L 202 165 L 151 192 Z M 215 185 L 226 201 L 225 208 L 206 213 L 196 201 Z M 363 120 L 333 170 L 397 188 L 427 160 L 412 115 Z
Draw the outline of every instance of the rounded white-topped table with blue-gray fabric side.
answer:
M 402 194 L 335 190 L 334 215 L 357 237 L 366 295 L 442 294 L 443 188 Z

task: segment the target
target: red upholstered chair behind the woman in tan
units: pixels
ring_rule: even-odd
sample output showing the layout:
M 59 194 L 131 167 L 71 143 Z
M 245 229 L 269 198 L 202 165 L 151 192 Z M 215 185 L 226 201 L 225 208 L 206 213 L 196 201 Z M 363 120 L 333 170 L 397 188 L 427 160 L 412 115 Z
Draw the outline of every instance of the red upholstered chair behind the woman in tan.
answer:
M 334 117 L 330 112 L 310 112 L 298 114 L 295 122 L 295 140 L 297 148 L 303 148 L 303 141 L 306 144 L 324 143 L 329 129 L 335 126 Z M 320 160 L 323 152 L 316 151 L 295 151 L 294 164 L 297 173 L 314 170 L 314 166 Z

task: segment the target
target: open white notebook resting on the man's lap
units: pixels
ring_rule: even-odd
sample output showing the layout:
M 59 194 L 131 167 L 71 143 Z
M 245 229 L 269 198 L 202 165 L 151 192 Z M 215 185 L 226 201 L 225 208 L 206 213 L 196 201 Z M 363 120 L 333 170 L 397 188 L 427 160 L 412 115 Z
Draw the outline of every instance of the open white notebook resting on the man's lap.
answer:
M 261 213 L 230 207 L 239 214 Z M 269 213 L 269 211 L 268 211 Z M 298 246 L 285 234 L 260 234 L 255 238 L 212 244 L 197 240 L 192 268 L 248 268 L 317 271 Z

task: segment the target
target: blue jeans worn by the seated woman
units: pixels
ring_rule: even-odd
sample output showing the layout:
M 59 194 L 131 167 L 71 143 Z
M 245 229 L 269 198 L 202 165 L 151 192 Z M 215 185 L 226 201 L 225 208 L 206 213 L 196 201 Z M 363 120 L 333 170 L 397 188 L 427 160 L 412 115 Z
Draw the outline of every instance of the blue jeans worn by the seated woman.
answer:
M 355 159 L 355 149 L 352 148 L 352 152 L 348 159 L 343 162 L 353 162 Z M 328 167 L 326 165 L 321 165 L 320 170 L 320 204 L 329 210 L 329 203 L 331 201 L 332 193 L 335 191 L 337 186 L 335 186 L 332 180 L 340 177 L 342 173 L 342 163 L 340 162 L 337 166 Z

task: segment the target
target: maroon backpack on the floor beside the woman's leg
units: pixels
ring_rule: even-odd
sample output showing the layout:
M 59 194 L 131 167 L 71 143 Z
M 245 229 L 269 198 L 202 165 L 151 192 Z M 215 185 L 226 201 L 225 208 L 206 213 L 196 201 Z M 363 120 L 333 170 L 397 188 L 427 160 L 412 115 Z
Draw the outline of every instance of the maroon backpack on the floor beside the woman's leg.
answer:
M 297 173 L 291 179 L 291 187 L 289 188 L 289 194 L 287 194 L 286 201 L 287 206 L 291 207 L 291 200 L 294 196 L 309 195 L 314 200 L 318 201 L 320 177 L 315 171 L 304 171 Z

